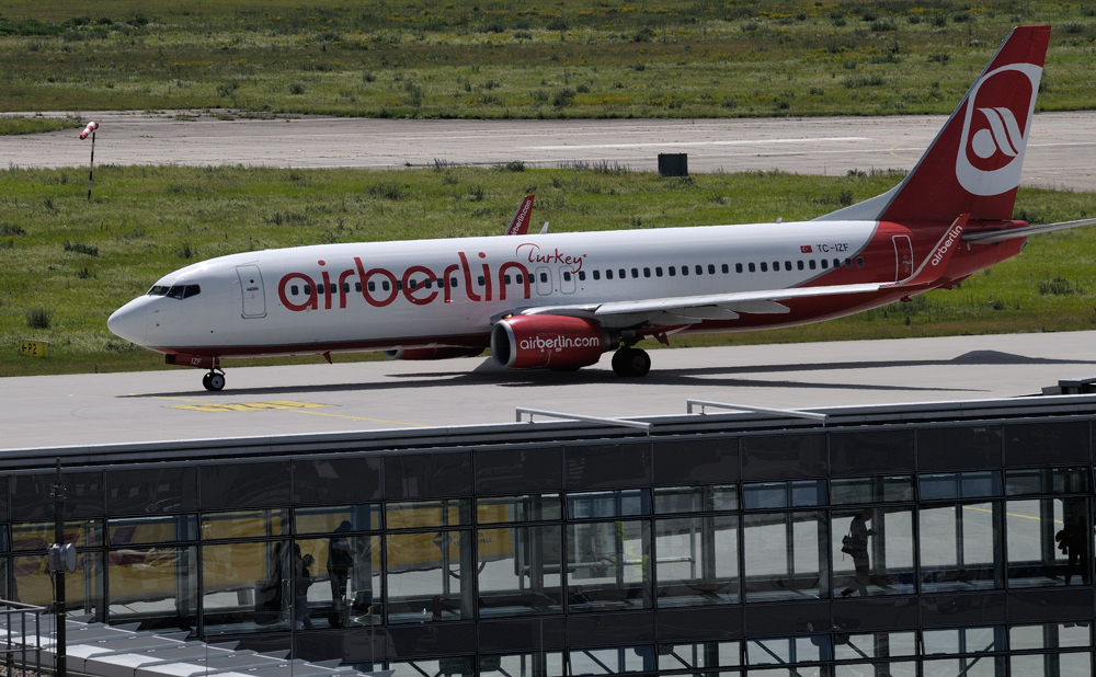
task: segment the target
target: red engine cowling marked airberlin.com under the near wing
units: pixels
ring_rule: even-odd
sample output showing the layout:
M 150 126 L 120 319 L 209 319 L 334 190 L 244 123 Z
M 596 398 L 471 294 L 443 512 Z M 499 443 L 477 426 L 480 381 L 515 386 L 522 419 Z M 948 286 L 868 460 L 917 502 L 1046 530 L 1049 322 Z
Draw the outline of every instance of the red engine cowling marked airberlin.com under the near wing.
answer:
M 567 315 L 516 315 L 491 330 L 491 355 L 507 369 L 578 369 L 608 348 L 601 325 Z

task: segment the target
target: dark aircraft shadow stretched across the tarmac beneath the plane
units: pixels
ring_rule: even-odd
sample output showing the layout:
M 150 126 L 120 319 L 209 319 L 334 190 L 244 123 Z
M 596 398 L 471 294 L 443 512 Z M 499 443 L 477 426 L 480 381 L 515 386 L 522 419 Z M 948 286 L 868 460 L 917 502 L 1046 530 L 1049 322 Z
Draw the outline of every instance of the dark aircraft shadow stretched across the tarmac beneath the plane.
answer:
M 582 371 L 512 371 L 494 365 L 490 358 L 482 362 L 471 371 L 419 371 L 414 374 L 397 374 L 391 378 L 398 381 L 370 383 L 329 383 L 322 386 L 272 386 L 267 388 L 238 388 L 220 392 L 204 392 L 197 389 L 179 392 L 146 392 L 119 395 L 122 398 L 163 398 L 163 397 L 226 397 L 226 395 L 276 395 L 289 393 L 323 393 L 323 392 L 388 392 L 414 388 L 463 387 L 476 385 L 495 385 L 504 388 L 529 388 L 548 386 L 582 386 L 610 383 L 627 388 L 637 386 L 689 386 L 689 387 L 734 387 L 734 388 L 804 388 L 830 390 L 878 390 L 910 392 L 984 392 L 977 388 L 931 388 L 921 386 L 899 386 L 881 383 L 855 383 L 849 381 L 811 382 L 778 379 L 735 378 L 734 375 L 745 374 L 781 374 L 801 371 L 847 371 L 854 369 L 887 369 L 940 367 L 949 365 L 1092 365 L 1094 360 L 1050 359 L 1042 357 L 1026 357 L 1011 355 L 996 351 L 973 351 L 952 359 L 909 359 L 909 360 L 876 360 L 876 362 L 831 362 L 796 365 L 750 365 L 750 366 L 711 366 L 683 369 L 652 370 L 642 379 L 624 379 L 607 369 L 587 369 Z M 722 378 L 720 378 L 722 377 Z

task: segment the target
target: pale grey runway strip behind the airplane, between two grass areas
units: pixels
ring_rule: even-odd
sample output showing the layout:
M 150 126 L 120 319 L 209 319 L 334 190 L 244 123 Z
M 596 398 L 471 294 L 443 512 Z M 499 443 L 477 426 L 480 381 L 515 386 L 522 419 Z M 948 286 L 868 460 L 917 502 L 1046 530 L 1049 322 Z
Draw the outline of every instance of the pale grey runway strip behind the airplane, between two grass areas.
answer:
M 62 115 L 62 114 L 53 114 Z M 780 170 L 845 174 L 852 169 L 913 168 L 945 117 L 755 119 L 407 121 L 343 117 L 218 119 L 210 114 L 82 113 L 102 127 L 95 163 L 246 164 L 397 169 L 535 167 L 609 162 L 658 169 L 660 152 L 688 153 L 690 172 Z M 185 117 L 181 119 L 180 117 Z M 9 165 L 87 167 L 78 129 L 0 137 Z M 1021 184 L 1096 191 L 1096 112 L 1035 117 Z M 110 181 L 100 174 L 99 181 Z

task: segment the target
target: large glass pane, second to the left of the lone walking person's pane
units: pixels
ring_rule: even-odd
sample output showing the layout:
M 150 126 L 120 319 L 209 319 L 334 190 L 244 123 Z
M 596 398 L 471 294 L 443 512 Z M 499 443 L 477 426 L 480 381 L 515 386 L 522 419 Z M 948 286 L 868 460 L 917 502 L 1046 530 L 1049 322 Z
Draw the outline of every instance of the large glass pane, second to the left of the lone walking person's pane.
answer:
M 658 520 L 659 607 L 737 603 L 738 533 L 734 515 Z

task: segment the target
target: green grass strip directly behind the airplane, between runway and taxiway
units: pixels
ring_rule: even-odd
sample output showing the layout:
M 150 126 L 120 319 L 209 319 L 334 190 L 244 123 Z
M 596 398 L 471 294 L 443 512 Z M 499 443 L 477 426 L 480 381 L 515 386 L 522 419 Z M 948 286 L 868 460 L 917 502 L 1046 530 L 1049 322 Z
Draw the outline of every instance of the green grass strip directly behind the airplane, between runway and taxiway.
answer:
M 612 164 L 439 164 L 399 172 L 105 165 L 89 203 L 81 170 L 0 170 L 0 376 L 161 365 L 161 357 L 110 334 L 106 318 L 161 275 L 222 254 L 498 234 L 526 193 L 537 196 L 536 222 L 550 220 L 553 231 L 806 219 L 882 193 L 900 177 L 850 172 L 661 179 Z M 1086 218 L 1093 197 L 1021 190 L 1016 215 L 1036 223 Z M 672 343 L 1093 329 L 1093 261 L 1096 228 L 1039 236 L 1018 257 L 911 303 L 802 328 Z M 21 338 L 49 341 L 52 357 L 20 357 Z

